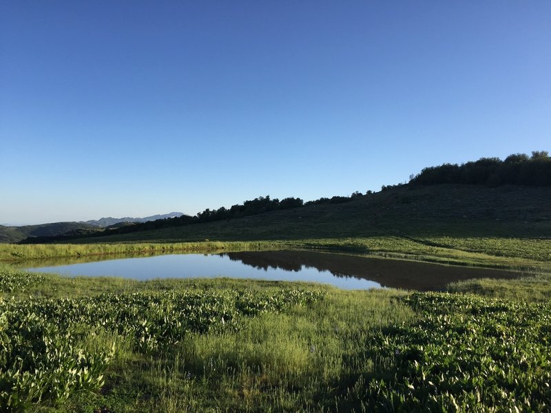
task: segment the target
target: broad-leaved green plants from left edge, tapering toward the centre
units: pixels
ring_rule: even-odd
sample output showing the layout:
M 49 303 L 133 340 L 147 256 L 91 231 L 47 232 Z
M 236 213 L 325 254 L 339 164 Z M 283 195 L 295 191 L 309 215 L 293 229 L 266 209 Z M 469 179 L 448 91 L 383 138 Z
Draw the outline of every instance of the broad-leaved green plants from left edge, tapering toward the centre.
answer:
M 320 291 L 280 290 L 272 295 L 216 293 L 107 293 L 96 297 L 0 301 L 0 410 L 67 399 L 74 390 L 98 390 L 114 357 L 87 350 L 89 334 L 127 337 L 138 352 L 158 352 L 188 334 L 238 329 L 240 317 L 279 313 L 322 299 Z M 88 333 L 85 333 L 87 331 Z

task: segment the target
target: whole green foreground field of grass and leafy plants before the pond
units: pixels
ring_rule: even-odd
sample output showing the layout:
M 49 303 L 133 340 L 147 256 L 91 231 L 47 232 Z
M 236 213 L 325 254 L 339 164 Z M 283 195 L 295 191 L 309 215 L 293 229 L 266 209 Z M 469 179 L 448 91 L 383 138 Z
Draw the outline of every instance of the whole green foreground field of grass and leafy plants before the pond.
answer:
M 0 409 L 545 411 L 551 306 L 539 281 L 410 293 L 3 266 Z

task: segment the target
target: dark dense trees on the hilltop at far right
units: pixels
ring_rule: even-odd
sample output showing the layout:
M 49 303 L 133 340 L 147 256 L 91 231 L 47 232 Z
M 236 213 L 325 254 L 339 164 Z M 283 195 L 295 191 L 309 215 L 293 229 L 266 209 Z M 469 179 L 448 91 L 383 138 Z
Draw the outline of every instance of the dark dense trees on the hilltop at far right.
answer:
M 461 165 L 446 163 L 424 168 L 409 183 L 547 186 L 551 185 L 551 157 L 547 151 L 532 151 L 532 156 L 514 153 L 505 160 L 480 158 Z

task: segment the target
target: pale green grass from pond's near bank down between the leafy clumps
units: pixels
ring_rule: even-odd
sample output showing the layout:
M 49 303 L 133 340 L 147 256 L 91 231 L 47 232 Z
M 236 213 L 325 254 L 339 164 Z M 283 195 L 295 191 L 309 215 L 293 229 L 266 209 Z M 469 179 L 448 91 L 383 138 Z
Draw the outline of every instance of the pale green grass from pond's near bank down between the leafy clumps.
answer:
M 6 278 L 21 275 L 10 271 L 7 274 L 5 270 L 3 275 Z M 211 295 L 233 294 L 231 291 L 238 291 L 240 299 L 246 294 L 275 297 L 282 290 L 299 287 L 321 290 L 324 298 L 307 306 L 291 306 L 281 313 L 268 310 L 256 317 L 238 317 L 237 328 L 225 324 L 226 328 L 208 334 L 191 331 L 173 341 L 171 346 L 145 350 L 136 346 L 134 330 L 129 330 L 132 334 L 123 331 L 113 335 L 113 331 L 94 324 L 93 328 L 85 329 L 89 331 L 87 334 L 75 335 L 72 342 L 76 347 L 80 343 L 90 354 L 94 354 L 94 349 L 99 354 L 108 354 L 112 343 L 116 343 L 116 354 L 110 359 L 101 389 L 90 393 L 90 390 L 76 388 L 67 400 L 54 402 L 45 398 L 43 403 L 32 405 L 32 409 L 44 412 L 94 412 L 102 407 L 123 412 L 209 409 L 318 411 L 333 403 L 333 395 L 326 394 L 328 386 L 355 374 L 357 369 L 370 365 L 373 368 L 374 361 L 366 358 L 361 346 L 371 332 L 389 324 L 401 324 L 413 317 L 413 312 L 399 302 L 404 293 L 397 291 L 347 293 L 328 286 L 233 279 L 100 281 L 43 275 L 37 282 L 25 286 L 19 295 L 14 295 L 11 288 L 3 294 L 6 299 L 14 297 L 16 303 L 21 303 L 18 308 L 33 308 L 33 305 L 39 309 L 47 308 L 54 321 L 63 320 L 64 323 L 69 319 L 67 316 L 59 318 L 60 315 L 54 314 L 65 311 L 64 306 L 72 301 L 59 297 L 74 297 L 79 300 L 75 303 L 88 306 L 95 302 L 88 297 L 103 300 L 105 291 L 110 290 L 114 290 L 111 293 L 115 295 L 127 297 L 127 288 L 141 291 L 144 295 L 140 297 L 156 297 L 167 292 L 196 293 L 205 297 L 201 299 L 204 301 Z M 98 287 L 101 288 L 98 290 Z M 58 300 L 51 301 L 58 304 L 54 307 L 40 304 L 50 300 Z M 71 304 L 71 314 L 74 314 L 75 305 Z M 112 313 L 113 310 L 106 306 L 103 304 L 101 310 L 98 308 L 86 314 L 100 317 L 99 313 L 103 311 Z M 160 308 L 169 307 L 163 305 Z M 128 308 L 128 304 L 121 308 Z M 313 377 L 318 379 L 313 380 Z M 315 400 L 318 401 L 312 404 Z

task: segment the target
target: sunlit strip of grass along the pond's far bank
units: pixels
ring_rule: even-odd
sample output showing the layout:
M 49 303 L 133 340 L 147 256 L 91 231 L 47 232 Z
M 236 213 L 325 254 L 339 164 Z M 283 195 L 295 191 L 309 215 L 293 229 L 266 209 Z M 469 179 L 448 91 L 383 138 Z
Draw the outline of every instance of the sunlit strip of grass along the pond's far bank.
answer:
M 441 244 L 439 244 L 439 242 Z M 447 242 L 447 244 L 444 244 Z M 438 264 L 508 268 L 514 271 L 551 273 L 549 242 L 545 240 L 455 240 L 430 238 L 415 241 L 394 235 L 377 237 L 320 238 L 248 242 L 178 242 L 163 240 L 136 244 L 0 244 L 0 261 L 22 262 L 34 259 L 67 257 L 76 260 L 107 256 L 152 255 L 167 253 L 216 253 L 227 251 L 268 251 L 281 249 L 314 249 L 415 260 Z M 503 249 L 501 248 L 503 245 Z M 96 258 L 94 258 L 96 257 Z

